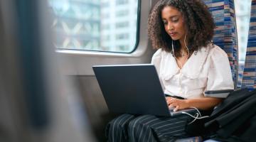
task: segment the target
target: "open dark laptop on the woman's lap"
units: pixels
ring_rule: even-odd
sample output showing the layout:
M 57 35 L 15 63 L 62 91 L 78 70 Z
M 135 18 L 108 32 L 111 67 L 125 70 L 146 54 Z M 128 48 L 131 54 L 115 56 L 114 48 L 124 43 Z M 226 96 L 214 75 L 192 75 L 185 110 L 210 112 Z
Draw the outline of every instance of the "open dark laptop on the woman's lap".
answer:
M 120 114 L 175 116 L 168 108 L 156 68 L 152 64 L 95 65 L 92 67 L 110 111 Z

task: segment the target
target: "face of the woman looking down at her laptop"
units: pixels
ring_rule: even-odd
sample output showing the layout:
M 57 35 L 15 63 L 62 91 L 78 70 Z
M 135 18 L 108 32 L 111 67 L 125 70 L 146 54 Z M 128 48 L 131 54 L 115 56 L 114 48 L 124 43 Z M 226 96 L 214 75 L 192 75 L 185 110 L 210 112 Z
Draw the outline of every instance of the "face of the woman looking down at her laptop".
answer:
M 173 6 L 165 6 L 161 11 L 161 18 L 165 31 L 171 36 L 171 39 L 183 42 L 186 35 L 186 27 L 184 26 L 181 12 Z

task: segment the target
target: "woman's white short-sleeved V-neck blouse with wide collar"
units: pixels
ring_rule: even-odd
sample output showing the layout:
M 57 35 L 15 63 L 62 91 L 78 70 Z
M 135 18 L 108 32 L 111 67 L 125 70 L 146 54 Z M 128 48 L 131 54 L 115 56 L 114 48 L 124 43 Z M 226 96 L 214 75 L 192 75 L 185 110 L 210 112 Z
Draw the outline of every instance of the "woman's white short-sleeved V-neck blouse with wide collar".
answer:
M 217 45 L 195 51 L 182 69 L 171 53 L 161 49 L 154 53 L 151 63 L 164 94 L 189 99 L 204 97 L 206 90 L 234 89 L 228 55 Z

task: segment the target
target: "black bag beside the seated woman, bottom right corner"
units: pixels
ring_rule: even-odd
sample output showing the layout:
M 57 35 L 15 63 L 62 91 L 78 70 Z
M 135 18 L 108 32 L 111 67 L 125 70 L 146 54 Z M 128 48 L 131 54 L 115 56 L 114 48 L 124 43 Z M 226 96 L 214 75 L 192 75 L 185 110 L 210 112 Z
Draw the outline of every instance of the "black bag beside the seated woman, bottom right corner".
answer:
M 256 140 L 256 90 L 229 94 L 204 124 L 203 133 L 217 141 Z

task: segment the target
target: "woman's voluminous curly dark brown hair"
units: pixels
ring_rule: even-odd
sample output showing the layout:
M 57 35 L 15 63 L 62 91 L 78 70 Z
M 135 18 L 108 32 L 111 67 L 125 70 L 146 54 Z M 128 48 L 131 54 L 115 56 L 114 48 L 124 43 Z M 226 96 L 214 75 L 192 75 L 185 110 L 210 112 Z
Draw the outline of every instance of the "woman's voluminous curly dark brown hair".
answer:
M 159 0 L 149 15 L 148 33 L 155 49 L 171 52 L 172 39 L 164 29 L 161 11 L 165 6 L 173 6 L 181 12 L 186 26 L 190 53 L 206 47 L 213 39 L 215 24 L 208 7 L 201 0 Z M 187 23 L 187 24 L 186 24 Z M 189 23 L 189 24 L 188 24 Z M 176 57 L 180 57 L 181 45 L 174 40 Z

